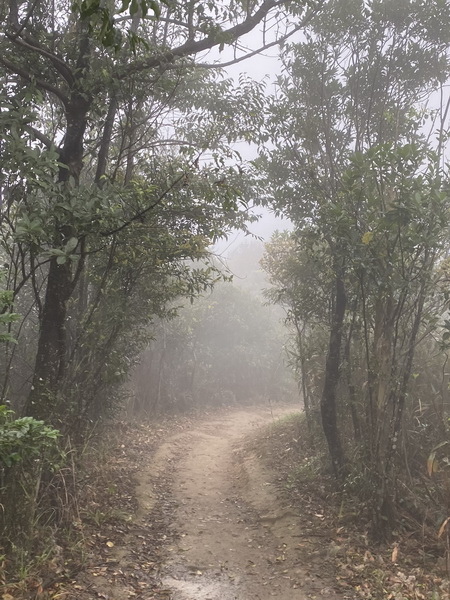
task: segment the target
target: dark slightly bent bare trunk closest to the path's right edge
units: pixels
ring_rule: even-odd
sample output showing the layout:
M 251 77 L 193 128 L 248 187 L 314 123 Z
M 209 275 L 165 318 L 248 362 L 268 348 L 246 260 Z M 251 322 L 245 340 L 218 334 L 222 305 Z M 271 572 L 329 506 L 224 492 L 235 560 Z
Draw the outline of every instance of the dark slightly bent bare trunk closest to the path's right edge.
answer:
M 345 460 L 337 425 L 336 396 L 340 378 L 342 328 L 347 298 L 344 287 L 344 269 L 335 268 L 335 292 L 331 317 L 330 342 L 325 366 L 325 382 L 320 404 L 322 427 L 330 452 L 333 471 L 336 477 L 345 474 Z

